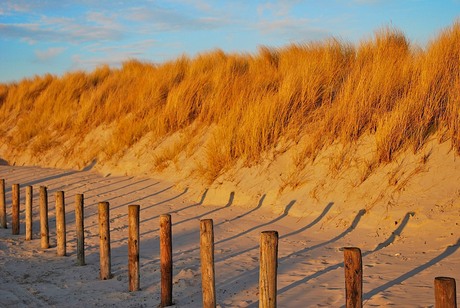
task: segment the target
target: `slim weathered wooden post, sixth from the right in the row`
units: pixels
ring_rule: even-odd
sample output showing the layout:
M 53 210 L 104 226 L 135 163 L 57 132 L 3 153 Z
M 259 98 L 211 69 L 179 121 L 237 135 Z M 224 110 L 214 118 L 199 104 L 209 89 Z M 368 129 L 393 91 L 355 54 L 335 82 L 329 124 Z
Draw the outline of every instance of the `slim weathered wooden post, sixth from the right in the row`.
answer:
M 129 291 L 139 290 L 139 211 L 137 204 L 128 206 L 128 279 Z

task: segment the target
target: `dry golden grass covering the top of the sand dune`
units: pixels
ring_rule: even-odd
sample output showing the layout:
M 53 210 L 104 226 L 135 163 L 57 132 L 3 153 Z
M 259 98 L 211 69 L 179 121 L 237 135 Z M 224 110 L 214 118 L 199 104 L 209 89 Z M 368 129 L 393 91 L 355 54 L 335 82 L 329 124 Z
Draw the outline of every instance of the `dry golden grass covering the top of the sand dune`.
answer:
M 307 141 L 295 157 L 299 169 L 333 142 L 346 146 L 373 134 L 377 151 L 362 171 L 364 181 L 374 161 L 418 151 L 436 132 L 460 153 L 459 67 L 460 22 L 426 49 L 385 28 L 357 45 L 329 39 L 261 47 L 256 54 L 215 50 L 158 65 L 133 60 L 119 69 L 1 84 L 1 139 L 39 155 L 108 125 L 112 141 L 104 152 L 110 158 L 147 133 L 160 140 L 191 125 L 196 132 L 212 128 L 197 167 L 212 182 L 237 160 L 258 163 L 281 140 Z M 158 154 L 156 167 L 177 157 L 179 148 L 185 146 Z M 339 154 L 334 172 L 349 160 Z

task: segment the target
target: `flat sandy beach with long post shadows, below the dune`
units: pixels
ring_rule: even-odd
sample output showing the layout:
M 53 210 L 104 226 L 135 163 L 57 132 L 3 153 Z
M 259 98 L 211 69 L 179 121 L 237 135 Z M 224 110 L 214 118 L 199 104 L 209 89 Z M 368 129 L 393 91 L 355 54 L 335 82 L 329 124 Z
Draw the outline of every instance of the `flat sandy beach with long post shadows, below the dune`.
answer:
M 188 188 L 149 178 L 101 176 L 88 171 L 0 166 L 6 180 L 8 229 L 0 230 L 2 307 L 152 307 L 160 303 L 159 215 L 173 222 L 173 301 L 176 307 L 200 307 L 199 221 L 212 218 L 215 233 L 216 293 L 219 307 L 257 307 L 259 235 L 279 232 L 278 306 L 341 307 L 345 304 L 343 247 L 363 254 L 364 305 L 432 307 L 437 276 L 460 281 L 460 227 L 455 207 L 450 219 L 420 221 L 408 211 L 393 228 L 372 227 L 372 216 L 356 207 L 345 223 L 331 219 L 334 202 L 306 217 L 263 206 L 265 196 L 247 207 L 232 206 L 234 193 L 221 202 L 191 200 Z M 11 235 L 11 185 L 21 184 L 21 232 Z M 24 189 L 34 187 L 33 240 L 24 237 Z M 39 239 L 38 188 L 48 187 L 52 247 Z M 56 255 L 54 194 L 65 192 L 67 256 Z M 85 196 L 86 266 L 76 265 L 74 196 Z M 193 194 L 196 195 L 196 194 Z M 110 203 L 112 272 L 99 280 L 97 204 Z M 128 205 L 139 204 L 140 287 L 128 292 Z M 447 215 L 446 214 L 446 215 Z M 458 213 L 457 213 L 458 214 Z M 442 217 L 442 215 L 440 215 Z M 457 220 L 457 223 L 455 221 Z M 380 229 L 380 230 L 379 230 Z M 457 297 L 459 290 L 457 288 Z

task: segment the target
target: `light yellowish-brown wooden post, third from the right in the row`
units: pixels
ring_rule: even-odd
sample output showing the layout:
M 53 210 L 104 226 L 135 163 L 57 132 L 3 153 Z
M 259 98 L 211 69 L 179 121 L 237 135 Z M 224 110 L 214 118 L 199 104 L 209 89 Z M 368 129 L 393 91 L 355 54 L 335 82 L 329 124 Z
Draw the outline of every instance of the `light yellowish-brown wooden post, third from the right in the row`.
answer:
M 276 307 L 278 232 L 260 234 L 259 307 Z

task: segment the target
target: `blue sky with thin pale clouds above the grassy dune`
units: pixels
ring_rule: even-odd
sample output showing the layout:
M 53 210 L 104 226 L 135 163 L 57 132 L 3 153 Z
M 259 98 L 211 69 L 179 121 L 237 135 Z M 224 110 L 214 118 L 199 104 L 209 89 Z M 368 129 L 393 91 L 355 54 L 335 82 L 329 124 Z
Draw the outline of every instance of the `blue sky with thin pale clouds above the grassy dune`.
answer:
M 154 63 L 220 48 L 256 52 L 385 26 L 420 46 L 460 18 L 460 0 L 0 0 L 0 82 Z

